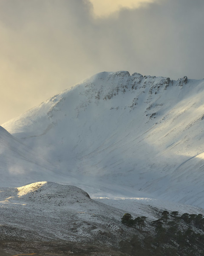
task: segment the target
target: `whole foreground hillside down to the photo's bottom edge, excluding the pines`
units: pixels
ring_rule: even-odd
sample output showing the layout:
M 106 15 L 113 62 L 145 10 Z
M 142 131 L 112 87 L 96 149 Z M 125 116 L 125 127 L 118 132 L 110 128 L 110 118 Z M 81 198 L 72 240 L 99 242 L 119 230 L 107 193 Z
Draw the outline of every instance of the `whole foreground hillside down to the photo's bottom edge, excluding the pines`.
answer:
M 204 214 L 200 208 L 151 198 L 91 199 L 78 187 L 53 182 L 0 188 L 0 250 L 9 256 L 26 253 L 37 256 L 135 255 L 139 247 L 133 246 L 131 241 L 136 239 L 134 243 L 143 246 L 143 240 L 155 237 L 153 221 L 161 218 L 163 211 L 178 211 L 179 216 L 187 212 L 194 218 Z M 126 212 L 133 218 L 147 217 L 142 229 L 121 223 Z M 167 230 L 175 220 L 169 215 L 168 221 L 171 224 L 166 225 L 163 220 Z M 177 226 L 184 236 L 188 225 L 181 219 Z M 198 232 L 196 227 L 193 230 Z M 199 234 L 204 232 L 200 230 Z M 154 253 L 158 247 L 157 241 L 152 243 L 149 253 Z M 179 247 L 179 243 L 173 246 L 171 242 L 165 243 L 159 246 L 160 249 Z

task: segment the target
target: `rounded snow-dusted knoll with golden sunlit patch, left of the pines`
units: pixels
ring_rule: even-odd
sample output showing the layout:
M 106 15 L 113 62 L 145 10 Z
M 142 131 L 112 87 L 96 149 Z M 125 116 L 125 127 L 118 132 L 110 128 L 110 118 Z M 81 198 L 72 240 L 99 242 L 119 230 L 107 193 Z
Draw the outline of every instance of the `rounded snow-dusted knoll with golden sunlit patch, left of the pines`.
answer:
M 99 239 L 105 244 L 109 244 L 105 233 L 113 244 L 122 237 L 121 210 L 92 200 L 78 187 L 53 182 L 1 188 L 0 215 L 2 237 L 9 234 L 34 241 Z

